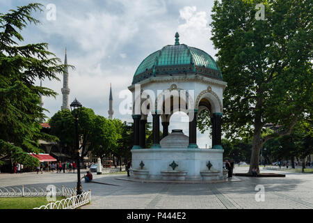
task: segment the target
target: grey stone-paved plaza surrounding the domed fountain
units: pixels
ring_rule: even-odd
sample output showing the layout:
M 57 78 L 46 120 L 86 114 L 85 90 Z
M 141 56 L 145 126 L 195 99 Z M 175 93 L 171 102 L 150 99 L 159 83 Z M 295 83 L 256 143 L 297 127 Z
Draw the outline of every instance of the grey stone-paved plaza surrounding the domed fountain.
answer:
M 248 167 L 234 169 L 234 172 L 246 171 Z M 127 178 L 118 174 L 94 174 L 97 182 L 113 185 L 82 183 L 83 190 L 90 189 L 92 193 L 92 202 L 82 208 L 313 208 L 313 174 L 284 174 L 285 178 L 238 177 L 240 181 L 207 184 L 138 183 L 118 180 Z M 0 174 L 0 187 L 49 184 L 75 187 L 76 182 L 76 174 Z M 264 186 L 265 201 L 255 200 L 256 185 Z

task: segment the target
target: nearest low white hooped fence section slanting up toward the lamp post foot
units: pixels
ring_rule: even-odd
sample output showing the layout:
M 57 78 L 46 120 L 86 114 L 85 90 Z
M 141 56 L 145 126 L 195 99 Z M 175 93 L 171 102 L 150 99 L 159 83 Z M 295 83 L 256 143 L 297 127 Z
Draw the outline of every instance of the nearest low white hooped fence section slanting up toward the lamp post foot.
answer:
M 90 202 L 90 190 L 88 192 L 83 192 L 79 195 L 74 195 L 72 197 L 67 197 L 61 201 L 50 202 L 47 205 L 40 206 L 39 208 L 33 209 L 75 209 L 80 206 L 85 205 Z

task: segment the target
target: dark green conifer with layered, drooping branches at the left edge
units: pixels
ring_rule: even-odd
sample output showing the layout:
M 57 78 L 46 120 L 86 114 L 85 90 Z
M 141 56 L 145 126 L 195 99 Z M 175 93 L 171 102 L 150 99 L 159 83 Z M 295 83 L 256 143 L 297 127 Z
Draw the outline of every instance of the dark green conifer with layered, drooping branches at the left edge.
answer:
M 40 120 L 46 109 L 39 106 L 40 95 L 55 96 L 56 92 L 35 86 L 36 79 L 58 79 L 65 66 L 47 43 L 20 45 L 21 31 L 28 24 L 39 24 L 31 16 L 42 11 L 42 5 L 30 3 L 9 13 L 0 13 L 0 154 L 8 155 L 33 167 L 38 160 L 27 152 L 39 153 L 38 139 L 55 141 L 56 137 L 40 132 Z

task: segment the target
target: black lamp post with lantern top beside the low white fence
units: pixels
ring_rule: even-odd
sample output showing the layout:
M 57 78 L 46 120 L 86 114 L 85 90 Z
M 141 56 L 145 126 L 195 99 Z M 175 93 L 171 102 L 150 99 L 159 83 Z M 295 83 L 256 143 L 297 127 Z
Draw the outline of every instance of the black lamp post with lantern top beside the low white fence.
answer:
M 75 100 L 70 105 L 71 112 L 75 115 L 75 141 L 76 141 L 76 153 L 77 153 L 77 195 L 81 194 L 81 159 L 79 155 L 79 134 L 78 134 L 78 118 L 81 113 L 81 103 L 75 98 Z

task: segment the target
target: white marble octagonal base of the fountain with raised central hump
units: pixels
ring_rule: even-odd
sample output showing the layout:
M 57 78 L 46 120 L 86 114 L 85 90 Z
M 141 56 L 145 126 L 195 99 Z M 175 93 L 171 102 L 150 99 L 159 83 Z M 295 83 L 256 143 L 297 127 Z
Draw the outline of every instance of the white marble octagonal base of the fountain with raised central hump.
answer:
M 161 148 L 133 149 L 131 150 L 132 168 L 142 168 L 142 170 L 148 171 L 149 175 L 146 179 L 150 180 L 224 179 L 223 150 L 187 148 L 186 141 L 188 141 L 188 137 L 182 130 L 173 130 L 171 134 L 162 139 Z M 176 165 L 175 168 L 171 165 L 173 162 Z M 211 163 L 211 174 L 206 175 L 209 171 L 208 162 Z

